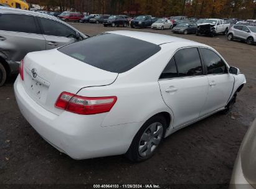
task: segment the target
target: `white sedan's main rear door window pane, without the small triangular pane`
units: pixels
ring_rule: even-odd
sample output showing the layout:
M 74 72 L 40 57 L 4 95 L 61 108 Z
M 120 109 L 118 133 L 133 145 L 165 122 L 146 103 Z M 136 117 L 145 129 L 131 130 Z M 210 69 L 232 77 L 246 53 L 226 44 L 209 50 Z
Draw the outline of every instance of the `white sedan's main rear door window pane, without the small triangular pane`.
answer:
M 202 64 L 197 48 L 184 48 L 174 55 L 179 76 L 202 75 Z

